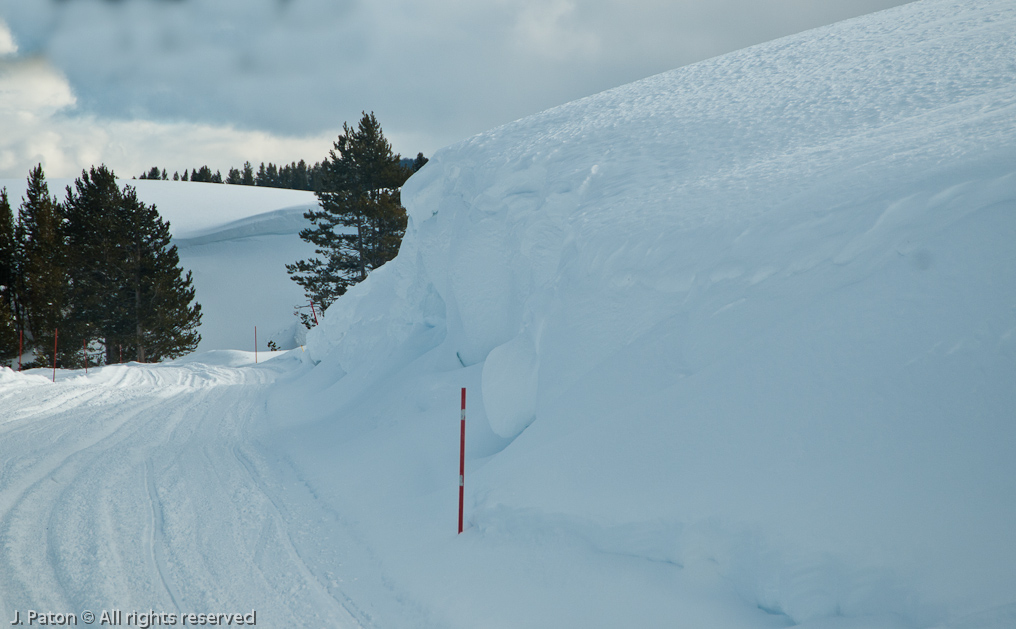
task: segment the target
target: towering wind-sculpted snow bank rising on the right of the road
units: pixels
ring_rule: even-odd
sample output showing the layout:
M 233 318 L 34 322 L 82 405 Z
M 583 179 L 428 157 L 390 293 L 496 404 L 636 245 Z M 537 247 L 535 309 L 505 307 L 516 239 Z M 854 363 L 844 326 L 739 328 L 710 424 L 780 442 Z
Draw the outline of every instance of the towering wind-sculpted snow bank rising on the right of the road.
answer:
M 985 626 L 1003 626 L 1000 606 L 1016 603 L 1014 32 L 1010 0 L 915 2 L 439 151 L 403 189 L 398 257 L 309 337 L 329 387 L 310 434 L 377 460 L 305 452 L 307 469 L 352 486 L 375 467 L 430 469 L 441 451 L 447 474 L 423 487 L 451 496 L 453 455 L 419 424 L 450 430 L 455 387 L 472 387 L 472 537 L 441 546 L 470 545 L 455 555 L 466 576 L 425 582 L 408 543 L 386 556 L 417 565 L 407 582 L 463 626 L 527 618 L 507 603 L 538 587 L 524 571 L 498 593 L 470 580 L 499 548 L 560 578 L 620 578 L 590 568 L 602 553 L 645 562 L 643 576 L 660 560 L 714 569 L 710 591 L 758 614 L 729 626 L 967 626 L 955 619 L 993 608 L 1003 620 Z M 416 530 L 394 526 L 370 534 Z M 534 542 L 548 537 L 592 554 L 548 566 Z M 550 587 L 559 611 L 610 613 Z M 690 601 L 683 587 L 636 595 L 641 620 Z M 489 606 L 451 603 L 471 596 Z M 537 624 L 553 618 L 575 617 Z

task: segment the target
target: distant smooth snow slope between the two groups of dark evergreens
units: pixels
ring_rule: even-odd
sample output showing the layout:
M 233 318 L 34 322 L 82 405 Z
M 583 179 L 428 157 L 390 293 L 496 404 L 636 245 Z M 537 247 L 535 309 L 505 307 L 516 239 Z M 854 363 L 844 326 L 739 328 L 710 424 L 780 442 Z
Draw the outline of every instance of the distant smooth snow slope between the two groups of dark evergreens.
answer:
M 314 248 L 299 238 L 310 223 L 304 212 L 317 204 L 312 192 L 198 182 L 123 180 L 170 223 L 181 265 L 194 273 L 202 319 L 198 350 L 264 351 L 272 339 L 280 349 L 303 337 L 294 308 L 304 292 L 285 264 L 309 257 Z M 48 180 L 62 201 L 73 179 Z M 16 211 L 24 179 L 0 180 Z

